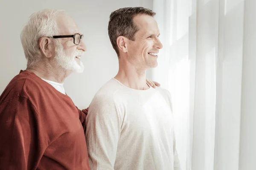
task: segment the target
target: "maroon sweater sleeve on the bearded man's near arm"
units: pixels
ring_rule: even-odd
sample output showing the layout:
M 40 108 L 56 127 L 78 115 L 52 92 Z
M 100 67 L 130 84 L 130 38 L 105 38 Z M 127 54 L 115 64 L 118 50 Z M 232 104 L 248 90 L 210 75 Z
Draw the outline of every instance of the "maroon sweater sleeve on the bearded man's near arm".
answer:
M 37 119 L 37 111 L 26 98 L 0 104 L 1 170 L 36 169 L 46 144 L 38 134 Z

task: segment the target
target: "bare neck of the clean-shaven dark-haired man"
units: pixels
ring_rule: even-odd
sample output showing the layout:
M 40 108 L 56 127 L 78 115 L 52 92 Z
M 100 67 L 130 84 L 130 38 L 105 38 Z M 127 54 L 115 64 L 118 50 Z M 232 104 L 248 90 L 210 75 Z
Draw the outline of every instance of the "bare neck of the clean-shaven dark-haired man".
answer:
M 146 90 L 149 88 L 146 83 L 146 69 L 137 68 L 122 59 L 119 59 L 119 71 L 114 78 L 128 88 L 137 90 Z

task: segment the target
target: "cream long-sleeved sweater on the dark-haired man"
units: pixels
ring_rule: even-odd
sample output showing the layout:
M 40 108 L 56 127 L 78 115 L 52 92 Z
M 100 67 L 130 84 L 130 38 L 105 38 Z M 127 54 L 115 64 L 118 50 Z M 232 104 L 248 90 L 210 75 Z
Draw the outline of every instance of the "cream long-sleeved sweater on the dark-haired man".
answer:
M 92 170 L 180 170 L 169 91 L 108 81 L 86 118 Z

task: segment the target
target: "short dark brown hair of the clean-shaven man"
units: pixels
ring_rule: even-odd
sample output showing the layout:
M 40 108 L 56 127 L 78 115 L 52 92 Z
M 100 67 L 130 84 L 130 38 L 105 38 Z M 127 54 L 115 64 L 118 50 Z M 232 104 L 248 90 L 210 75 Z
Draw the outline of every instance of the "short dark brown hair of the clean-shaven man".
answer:
M 134 24 L 133 18 L 139 14 L 154 17 L 156 13 L 148 8 L 126 7 L 117 9 L 110 14 L 108 22 L 108 36 L 118 57 L 119 51 L 116 39 L 119 36 L 124 36 L 129 40 L 134 41 L 134 34 L 138 31 L 138 28 Z

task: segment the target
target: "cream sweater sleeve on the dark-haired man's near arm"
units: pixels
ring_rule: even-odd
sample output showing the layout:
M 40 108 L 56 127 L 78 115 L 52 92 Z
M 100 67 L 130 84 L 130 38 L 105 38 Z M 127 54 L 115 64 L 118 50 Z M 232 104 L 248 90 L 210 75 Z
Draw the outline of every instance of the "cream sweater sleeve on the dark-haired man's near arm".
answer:
M 113 99 L 94 97 L 86 118 L 85 135 L 92 170 L 114 169 L 121 122 Z

